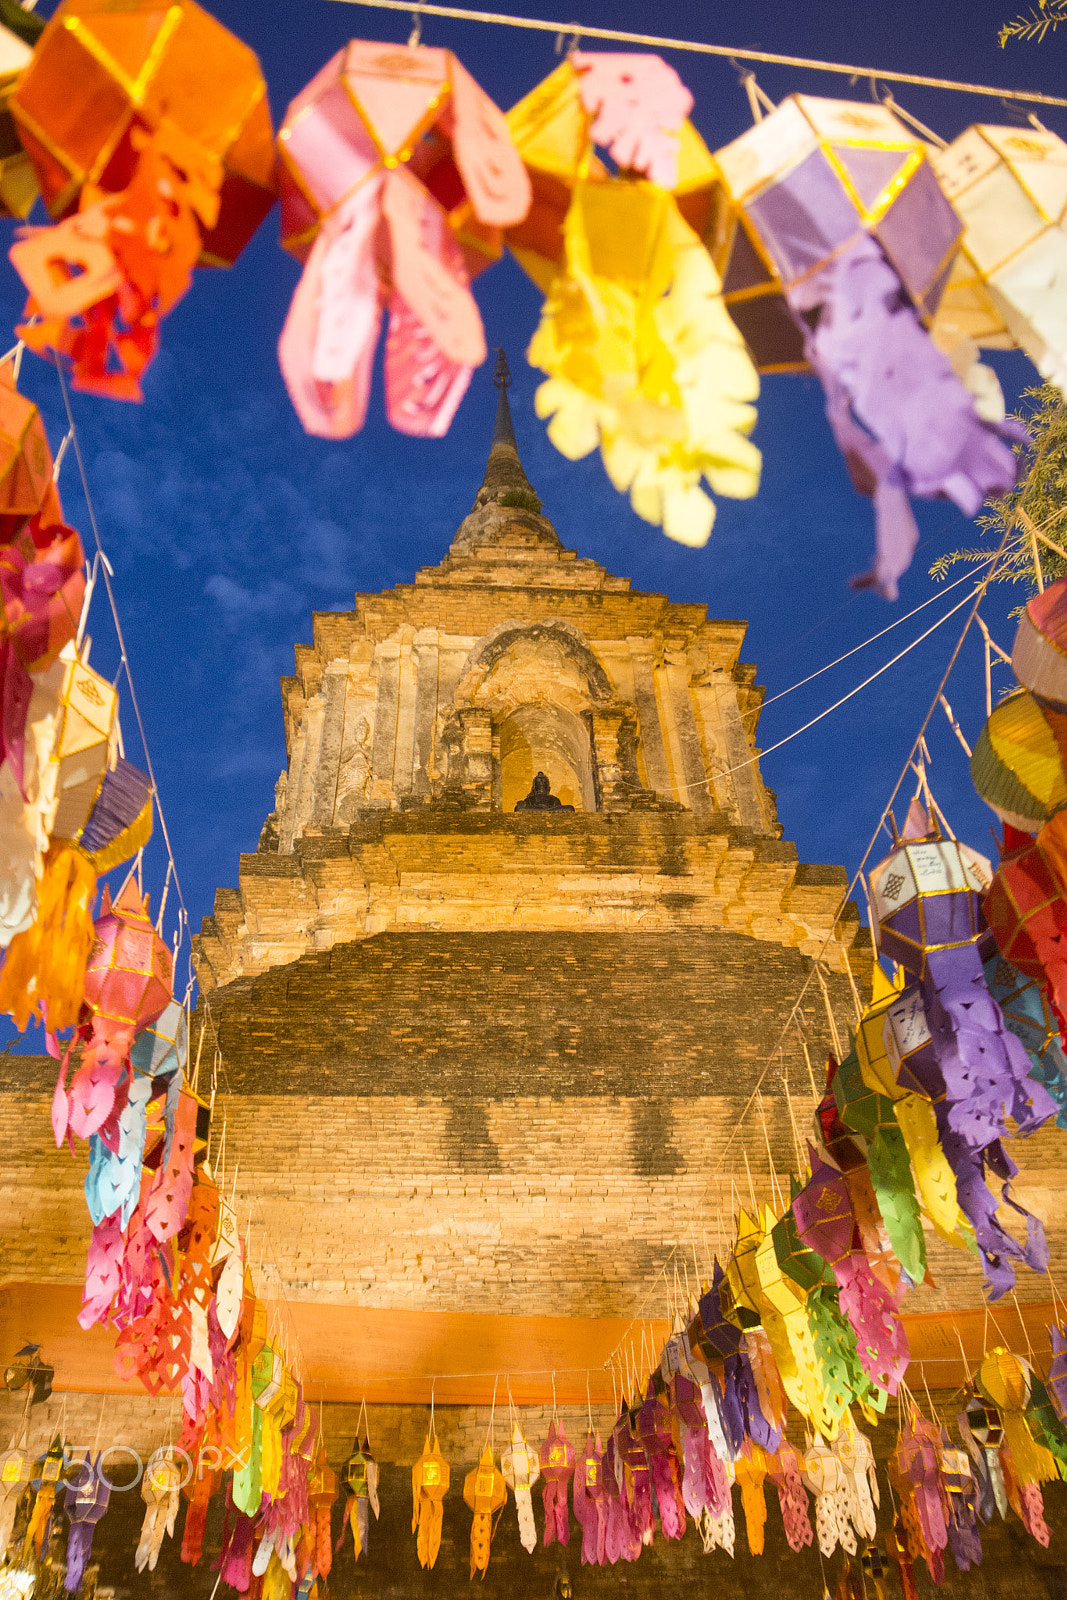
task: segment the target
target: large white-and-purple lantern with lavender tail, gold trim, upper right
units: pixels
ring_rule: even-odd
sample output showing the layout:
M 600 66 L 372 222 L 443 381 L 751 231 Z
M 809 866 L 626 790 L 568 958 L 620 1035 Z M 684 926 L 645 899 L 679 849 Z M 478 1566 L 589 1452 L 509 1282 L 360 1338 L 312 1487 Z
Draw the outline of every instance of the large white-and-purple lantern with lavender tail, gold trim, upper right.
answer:
M 918 542 L 909 498 L 973 517 L 1014 485 L 1009 443 L 1025 438 L 979 418 L 926 331 L 960 221 L 923 141 L 885 106 L 792 94 L 715 160 L 744 211 L 739 270 L 784 296 L 853 483 L 873 499 L 875 566 L 856 582 L 894 600 Z

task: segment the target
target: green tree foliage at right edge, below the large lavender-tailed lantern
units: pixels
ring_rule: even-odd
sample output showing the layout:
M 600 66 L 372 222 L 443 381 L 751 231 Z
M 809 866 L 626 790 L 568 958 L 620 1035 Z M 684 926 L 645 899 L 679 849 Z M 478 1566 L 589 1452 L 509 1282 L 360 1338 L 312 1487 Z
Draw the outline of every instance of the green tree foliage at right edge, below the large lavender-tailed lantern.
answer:
M 1067 0 L 1064 5 L 1067 6 Z M 1053 384 L 1027 389 L 1022 398 L 1029 405 L 1025 411 L 1019 413 L 1019 421 L 1025 422 L 1030 430 L 1030 443 L 1019 451 L 1022 469 L 1019 486 L 1005 494 L 1003 499 L 987 501 L 987 514 L 976 517 L 982 538 L 992 544 L 992 549 L 969 546 L 963 550 L 949 550 L 937 557 L 929 574 L 941 581 L 957 562 L 984 566 L 993 549 L 1008 534 L 992 581 L 1024 584 L 1029 600 L 1038 589 L 1033 541 L 1029 531 L 1016 522 L 1016 512 L 1025 510 L 1041 533 L 1067 550 L 1067 406 L 1059 389 Z M 1051 550 L 1048 544 L 1040 546 L 1040 555 L 1041 576 L 1046 584 L 1067 573 L 1067 560 Z

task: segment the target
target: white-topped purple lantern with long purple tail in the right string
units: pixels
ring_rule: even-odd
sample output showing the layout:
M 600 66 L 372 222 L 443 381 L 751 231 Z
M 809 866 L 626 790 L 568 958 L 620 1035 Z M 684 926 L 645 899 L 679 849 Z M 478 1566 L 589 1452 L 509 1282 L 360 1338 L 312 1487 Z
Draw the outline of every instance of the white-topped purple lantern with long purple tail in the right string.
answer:
M 888 1011 L 897 1080 L 905 1070 L 909 1086 L 933 1101 L 957 1198 L 974 1227 L 987 1290 L 998 1298 L 1014 1285 L 1013 1262 L 1033 1270 L 1048 1262 L 1041 1224 L 1009 1200 L 1017 1168 L 1001 1138 L 1011 1131 L 1008 1118 L 1029 1133 L 1056 1114 L 1056 1102 L 1030 1077 L 1030 1058 L 985 986 L 979 942 L 984 934 L 989 941 L 982 894 L 990 880 L 989 861 L 942 838 L 913 802 L 901 845 L 870 874 L 870 898 L 880 952 L 915 981 Z M 1001 1200 L 1025 1218 L 1025 1245 L 1000 1222 L 987 1170 L 1001 1181 Z

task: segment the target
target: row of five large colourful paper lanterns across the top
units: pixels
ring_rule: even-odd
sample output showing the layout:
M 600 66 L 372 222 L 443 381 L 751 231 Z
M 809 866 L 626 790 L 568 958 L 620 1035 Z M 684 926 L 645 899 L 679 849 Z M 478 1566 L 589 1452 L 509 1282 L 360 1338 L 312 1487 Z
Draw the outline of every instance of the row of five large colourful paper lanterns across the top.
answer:
M 451 51 L 354 40 L 275 157 L 254 54 L 194 0 L 62 0 L 32 51 L 0 42 L 8 210 L 29 210 L 32 173 L 58 219 L 10 251 L 19 336 L 75 387 L 141 398 L 192 269 L 232 264 L 280 192 L 304 264 L 278 344 L 301 422 L 363 426 L 387 310 L 389 421 L 438 437 L 485 360 L 470 280 L 507 243 L 545 294 L 530 360 L 563 454 L 600 448 L 640 517 L 704 544 L 704 485 L 758 490 L 758 371 L 813 370 L 875 506 L 856 582 L 893 598 L 912 496 L 974 515 L 1016 482 L 1025 434 L 974 350 L 1067 371 L 1067 144 L 1046 130 L 981 125 L 931 155 L 889 106 L 753 90 L 760 120 L 712 155 L 654 54 L 574 50 L 506 117 Z

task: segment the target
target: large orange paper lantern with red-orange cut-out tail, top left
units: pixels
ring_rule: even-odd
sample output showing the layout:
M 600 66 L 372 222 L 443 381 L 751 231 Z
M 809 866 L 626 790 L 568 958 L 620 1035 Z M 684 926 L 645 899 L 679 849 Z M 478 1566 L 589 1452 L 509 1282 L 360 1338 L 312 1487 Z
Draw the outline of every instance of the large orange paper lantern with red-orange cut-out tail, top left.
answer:
M 234 262 L 274 203 L 259 62 L 194 0 L 62 0 L 11 114 L 62 218 L 11 248 L 21 338 L 75 387 L 139 400 L 192 269 Z

